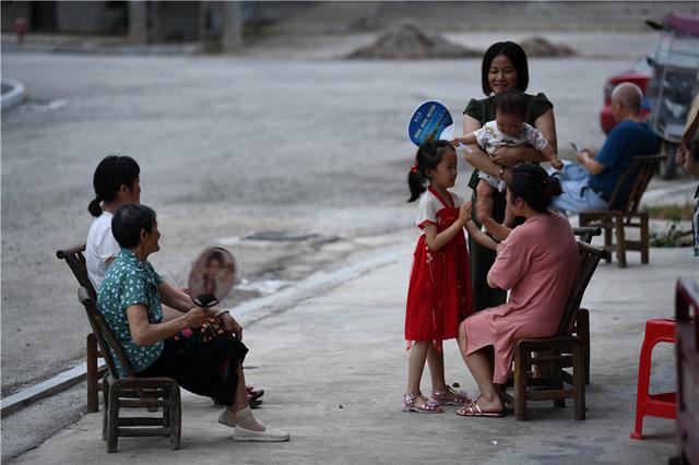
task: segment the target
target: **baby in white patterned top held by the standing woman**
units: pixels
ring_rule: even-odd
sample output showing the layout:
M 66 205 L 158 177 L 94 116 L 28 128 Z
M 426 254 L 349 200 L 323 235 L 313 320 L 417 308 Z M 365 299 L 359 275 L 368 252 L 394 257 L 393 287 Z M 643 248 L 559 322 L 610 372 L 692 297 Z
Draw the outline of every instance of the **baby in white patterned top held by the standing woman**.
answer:
M 478 144 L 490 158 L 495 156 L 498 148 L 502 146 L 525 146 L 536 148 L 550 162 L 556 169 L 562 169 L 562 162 L 556 156 L 556 151 L 544 138 L 541 131 L 524 122 L 526 116 L 526 97 L 524 93 L 517 88 L 508 88 L 493 97 L 495 108 L 495 120 L 486 122 L 483 128 L 470 132 L 461 138 L 457 138 L 454 145 Z M 500 170 L 500 177 L 478 172 L 478 184 L 476 186 L 476 218 L 496 238 L 502 240 L 507 236 L 498 222 L 493 218 L 495 204 L 495 191 L 505 192 L 506 182 L 502 179 L 505 167 Z M 508 227 L 514 226 L 514 216 L 508 208 L 505 210 L 503 224 Z

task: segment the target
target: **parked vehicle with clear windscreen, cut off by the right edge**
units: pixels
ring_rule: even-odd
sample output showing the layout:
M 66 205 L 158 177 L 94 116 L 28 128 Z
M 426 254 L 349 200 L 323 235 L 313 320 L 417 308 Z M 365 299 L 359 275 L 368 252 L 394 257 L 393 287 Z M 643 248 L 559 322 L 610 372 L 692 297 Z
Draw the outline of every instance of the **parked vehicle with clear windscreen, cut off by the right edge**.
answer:
M 666 155 L 660 175 L 675 176 L 675 153 L 682 140 L 691 100 L 699 93 L 699 14 L 670 13 L 648 21 L 657 32 L 648 61 L 653 75 L 647 94 L 652 104 L 651 126 Z

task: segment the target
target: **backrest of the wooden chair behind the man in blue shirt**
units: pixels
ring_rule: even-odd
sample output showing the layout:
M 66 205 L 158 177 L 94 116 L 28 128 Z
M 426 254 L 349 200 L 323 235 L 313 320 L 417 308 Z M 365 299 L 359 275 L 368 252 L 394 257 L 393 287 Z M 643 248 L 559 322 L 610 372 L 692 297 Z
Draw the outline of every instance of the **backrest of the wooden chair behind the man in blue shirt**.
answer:
M 631 166 L 619 178 L 612 198 L 609 210 L 636 213 L 641 204 L 641 198 L 651 181 L 655 168 L 665 159 L 665 155 L 647 155 L 633 158 Z

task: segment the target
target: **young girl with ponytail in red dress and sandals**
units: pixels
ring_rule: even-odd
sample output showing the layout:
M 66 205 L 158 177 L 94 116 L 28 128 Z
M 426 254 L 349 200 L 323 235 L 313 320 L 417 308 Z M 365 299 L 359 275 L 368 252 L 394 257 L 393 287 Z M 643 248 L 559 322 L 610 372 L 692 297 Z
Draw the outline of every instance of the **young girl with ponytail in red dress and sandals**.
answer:
M 428 142 L 418 148 L 407 175 L 408 202 L 419 199 L 416 223 L 423 234 L 415 247 L 407 289 L 405 339 L 410 354 L 403 412 L 439 414 L 442 405 L 469 402 L 465 393 L 445 382 L 442 354 L 442 341 L 457 338 L 459 322 L 473 313 L 463 231 L 471 217 L 471 202 L 463 203 L 447 190 L 455 179 L 457 152 L 449 142 Z M 425 360 L 433 382 L 429 400 L 419 391 Z

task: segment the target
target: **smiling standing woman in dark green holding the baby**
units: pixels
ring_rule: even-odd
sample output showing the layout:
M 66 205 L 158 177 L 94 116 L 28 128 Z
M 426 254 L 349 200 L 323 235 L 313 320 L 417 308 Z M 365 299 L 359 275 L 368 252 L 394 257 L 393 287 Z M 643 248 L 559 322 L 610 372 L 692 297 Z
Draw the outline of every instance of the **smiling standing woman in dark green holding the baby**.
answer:
M 499 41 L 493 44 L 483 56 L 481 71 L 483 93 L 486 98 L 472 98 L 464 110 L 463 132 L 477 130 L 487 121 L 495 119 L 493 96 L 508 88 L 517 88 L 521 92 L 529 84 L 529 67 L 526 53 L 518 44 L 512 41 Z M 549 144 L 557 150 L 556 123 L 554 120 L 554 105 L 544 94 L 525 94 L 526 118 L 525 122 L 538 129 Z M 522 162 L 545 162 L 544 156 L 533 147 L 502 147 L 493 158 L 477 146 L 470 147 L 465 152 L 465 160 L 473 165 L 475 171 L 469 181 L 473 189 L 473 202 L 476 201 L 476 184 L 478 170 L 485 171 L 502 179 L 508 179 L 511 168 Z M 494 218 L 502 222 L 505 218 L 505 192 L 496 192 L 494 195 Z M 469 238 L 469 251 L 471 260 L 471 279 L 473 285 L 473 300 L 475 310 L 483 310 L 505 303 L 507 293 L 501 289 L 491 289 L 486 283 L 488 270 L 495 262 L 495 252 L 486 249 Z

